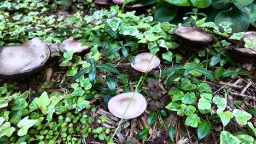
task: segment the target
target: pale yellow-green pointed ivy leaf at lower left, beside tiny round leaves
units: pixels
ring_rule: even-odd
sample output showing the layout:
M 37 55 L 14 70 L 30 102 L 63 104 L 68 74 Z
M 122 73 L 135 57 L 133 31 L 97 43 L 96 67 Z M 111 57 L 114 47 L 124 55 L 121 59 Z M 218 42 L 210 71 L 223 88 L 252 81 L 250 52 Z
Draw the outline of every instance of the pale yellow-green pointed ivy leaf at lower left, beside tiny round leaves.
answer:
M 17 124 L 20 128 L 18 131 L 19 136 L 24 136 L 27 134 L 27 130 L 32 127 L 37 122 L 37 119 L 28 119 L 28 116 L 21 119 L 21 121 Z

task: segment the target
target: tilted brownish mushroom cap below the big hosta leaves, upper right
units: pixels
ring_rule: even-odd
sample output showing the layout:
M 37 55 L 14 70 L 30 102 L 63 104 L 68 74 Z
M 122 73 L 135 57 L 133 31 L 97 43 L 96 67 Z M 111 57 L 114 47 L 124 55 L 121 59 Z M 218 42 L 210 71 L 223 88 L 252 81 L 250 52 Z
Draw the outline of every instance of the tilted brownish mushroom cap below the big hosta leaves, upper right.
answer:
M 176 37 L 181 38 L 185 41 L 192 42 L 194 44 L 207 45 L 212 43 L 213 36 L 207 34 L 201 28 L 181 26 L 174 32 Z

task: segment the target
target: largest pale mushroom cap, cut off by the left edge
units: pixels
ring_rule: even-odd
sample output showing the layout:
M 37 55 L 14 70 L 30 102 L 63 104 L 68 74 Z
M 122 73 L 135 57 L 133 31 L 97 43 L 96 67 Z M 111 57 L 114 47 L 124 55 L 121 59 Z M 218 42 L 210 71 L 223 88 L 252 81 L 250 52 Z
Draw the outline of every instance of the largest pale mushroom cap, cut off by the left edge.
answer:
M 8 79 L 42 67 L 51 55 L 48 45 L 35 37 L 24 44 L 0 47 L 0 77 Z

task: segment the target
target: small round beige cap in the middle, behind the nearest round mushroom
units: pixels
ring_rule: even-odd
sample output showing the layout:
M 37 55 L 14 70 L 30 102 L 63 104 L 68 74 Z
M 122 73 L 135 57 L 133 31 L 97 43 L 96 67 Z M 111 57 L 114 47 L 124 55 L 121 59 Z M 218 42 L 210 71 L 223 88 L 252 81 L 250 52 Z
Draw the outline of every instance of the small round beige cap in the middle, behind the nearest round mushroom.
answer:
M 152 61 L 150 62 L 151 58 L 152 58 Z M 131 67 L 133 69 L 146 73 L 147 69 L 148 71 L 150 71 L 158 67 L 159 64 L 160 64 L 160 59 L 158 57 L 154 56 L 152 53 L 144 52 L 135 56 L 135 64 L 131 63 Z

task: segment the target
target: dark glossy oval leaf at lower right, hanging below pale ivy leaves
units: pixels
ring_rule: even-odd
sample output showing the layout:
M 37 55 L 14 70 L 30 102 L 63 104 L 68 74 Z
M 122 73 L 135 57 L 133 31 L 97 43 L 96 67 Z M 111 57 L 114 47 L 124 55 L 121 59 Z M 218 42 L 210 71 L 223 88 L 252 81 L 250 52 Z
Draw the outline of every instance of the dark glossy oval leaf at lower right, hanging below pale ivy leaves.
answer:
M 202 120 L 201 123 L 197 127 L 197 137 L 201 140 L 205 137 L 208 133 L 210 133 L 211 125 L 205 120 Z

